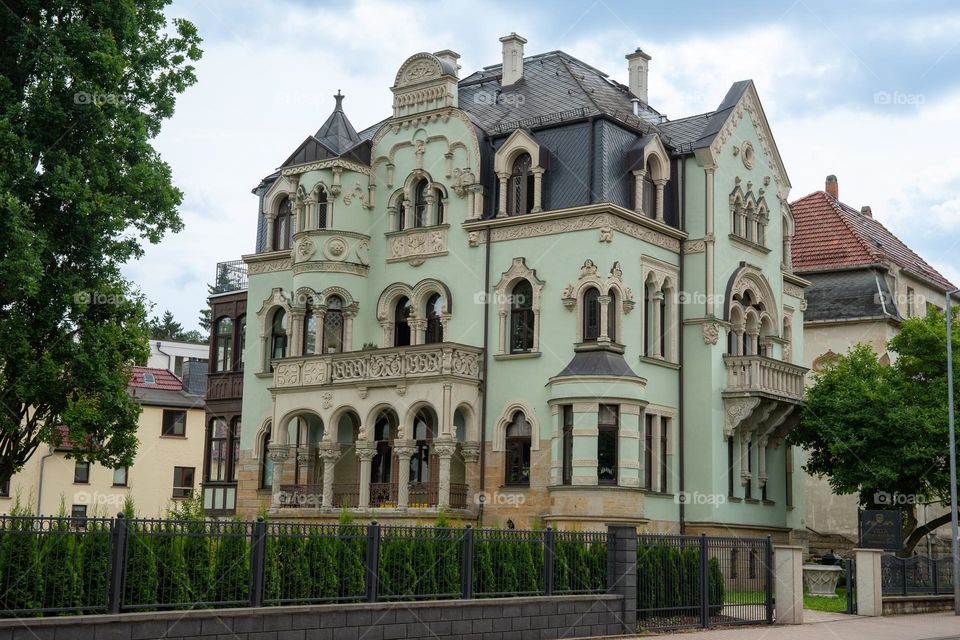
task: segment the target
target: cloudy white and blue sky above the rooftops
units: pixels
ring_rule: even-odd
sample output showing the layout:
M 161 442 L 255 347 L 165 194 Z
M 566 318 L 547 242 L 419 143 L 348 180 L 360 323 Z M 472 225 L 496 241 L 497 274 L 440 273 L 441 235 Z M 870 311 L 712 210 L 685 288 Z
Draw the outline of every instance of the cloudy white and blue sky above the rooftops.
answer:
M 839 5 L 839 6 L 838 6 Z M 793 183 L 837 174 L 842 200 L 960 283 L 960 5 L 774 2 L 330 2 L 174 0 L 204 38 L 198 83 L 157 147 L 184 192 L 184 230 L 126 267 L 156 305 L 196 327 L 217 262 L 253 250 L 250 190 L 326 119 L 338 89 L 359 130 L 389 115 L 389 86 L 418 51 L 453 49 L 462 75 L 563 49 L 626 83 L 624 54 L 653 56 L 650 102 L 709 111 L 753 78 Z

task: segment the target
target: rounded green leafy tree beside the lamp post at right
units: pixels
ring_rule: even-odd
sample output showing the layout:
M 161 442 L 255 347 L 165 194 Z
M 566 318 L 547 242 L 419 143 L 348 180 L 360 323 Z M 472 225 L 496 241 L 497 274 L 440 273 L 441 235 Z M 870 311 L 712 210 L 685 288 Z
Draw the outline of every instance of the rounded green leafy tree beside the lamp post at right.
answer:
M 806 449 L 807 472 L 825 476 L 834 493 L 902 511 L 907 555 L 950 521 L 949 514 L 917 521 L 918 502 L 949 504 L 946 335 L 946 315 L 934 310 L 903 321 L 888 345 L 897 355 L 892 365 L 863 344 L 838 356 L 816 375 L 789 436 Z M 960 373 L 956 325 L 953 343 Z

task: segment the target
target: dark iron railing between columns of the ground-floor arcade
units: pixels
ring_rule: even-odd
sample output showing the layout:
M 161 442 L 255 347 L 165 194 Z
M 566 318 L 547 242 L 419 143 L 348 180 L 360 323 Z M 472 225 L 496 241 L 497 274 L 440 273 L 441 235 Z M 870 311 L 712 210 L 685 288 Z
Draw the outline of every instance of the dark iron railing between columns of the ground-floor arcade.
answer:
M 408 509 L 434 509 L 440 505 L 439 482 L 411 482 L 408 485 Z M 335 509 L 394 509 L 400 499 L 396 482 L 370 483 L 369 504 L 361 505 L 360 486 L 357 484 L 333 485 L 333 508 Z M 323 485 L 290 484 L 280 487 L 281 509 L 319 509 L 323 506 Z M 450 484 L 450 508 L 467 508 L 467 485 Z

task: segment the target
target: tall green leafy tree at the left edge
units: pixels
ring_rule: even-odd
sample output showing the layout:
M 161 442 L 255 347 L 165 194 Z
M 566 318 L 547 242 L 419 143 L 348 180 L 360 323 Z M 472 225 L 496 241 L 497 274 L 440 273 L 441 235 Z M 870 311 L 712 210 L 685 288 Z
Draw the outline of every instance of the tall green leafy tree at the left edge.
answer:
M 59 424 L 73 456 L 132 462 L 146 310 L 120 268 L 182 227 L 152 140 L 201 55 L 167 4 L 0 11 L 0 480 L 60 444 Z

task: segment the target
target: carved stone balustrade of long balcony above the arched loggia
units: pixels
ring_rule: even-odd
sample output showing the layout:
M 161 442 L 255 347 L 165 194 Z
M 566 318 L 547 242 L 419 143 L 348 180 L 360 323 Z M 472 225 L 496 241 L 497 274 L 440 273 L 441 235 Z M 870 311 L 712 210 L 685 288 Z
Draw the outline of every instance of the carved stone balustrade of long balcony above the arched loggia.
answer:
M 436 376 L 480 379 L 482 349 L 452 342 L 284 358 L 274 364 L 274 387 L 397 382 Z

